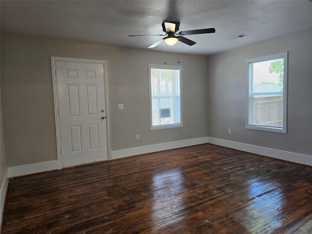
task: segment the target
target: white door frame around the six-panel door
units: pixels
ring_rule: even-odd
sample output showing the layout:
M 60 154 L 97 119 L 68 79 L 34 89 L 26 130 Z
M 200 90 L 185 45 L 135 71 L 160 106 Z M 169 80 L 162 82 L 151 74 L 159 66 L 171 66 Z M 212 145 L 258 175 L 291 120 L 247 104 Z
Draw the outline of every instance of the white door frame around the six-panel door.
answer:
M 53 96 L 54 96 L 54 113 L 57 133 L 57 152 L 59 169 L 63 168 L 62 155 L 60 149 L 60 122 L 59 122 L 59 94 L 58 94 L 58 80 L 56 76 L 56 62 L 80 62 L 80 63 L 96 63 L 103 65 L 104 74 L 104 90 L 105 90 L 105 108 L 106 108 L 106 134 L 107 134 L 107 156 L 108 160 L 112 159 L 111 156 L 111 140 L 110 140 L 110 118 L 109 118 L 109 99 L 108 99 L 108 81 L 107 81 L 107 61 L 95 60 L 95 59 L 75 59 L 75 58 L 63 58 L 63 57 L 51 57 L 52 63 L 52 79 L 53 79 Z

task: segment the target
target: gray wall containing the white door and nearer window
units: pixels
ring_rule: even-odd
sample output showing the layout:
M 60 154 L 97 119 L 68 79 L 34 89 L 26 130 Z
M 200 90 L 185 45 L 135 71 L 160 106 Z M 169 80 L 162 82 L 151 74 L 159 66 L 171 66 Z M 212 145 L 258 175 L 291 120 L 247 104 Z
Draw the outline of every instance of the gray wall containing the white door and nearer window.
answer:
M 57 159 L 51 56 L 108 61 L 112 150 L 207 137 L 207 57 L 179 55 L 183 128 L 150 131 L 148 63 L 163 64 L 163 52 L 1 34 L 1 95 L 8 166 Z M 166 53 L 166 64 L 175 65 L 177 59 L 177 54 Z M 118 103 L 124 104 L 123 111 L 117 110 Z

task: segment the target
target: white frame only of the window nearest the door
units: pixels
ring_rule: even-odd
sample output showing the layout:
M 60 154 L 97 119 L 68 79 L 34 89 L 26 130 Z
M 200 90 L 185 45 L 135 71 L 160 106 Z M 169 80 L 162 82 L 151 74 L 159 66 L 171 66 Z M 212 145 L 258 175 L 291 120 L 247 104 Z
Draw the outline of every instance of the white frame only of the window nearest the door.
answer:
M 178 65 L 161 65 L 161 64 L 148 64 L 148 71 L 149 71 L 149 105 L 150 105 L 150 130 L 158 130 L 158 129 L 168 129 L 168 128 L 179 128 L 183 127 L 183 119 L 182 119 L 182 66 Z M 152 68 L 159 68 L 159 69 L 173 69 L 179 71 L 179 103 L 180 108 L 178 113 L 180 123 L 176 124 L 165 124 L 165 125 L 156 125 L 153 126 L 153 111 L 152 111 L 152 80 L 151 80 L 151 69 Z

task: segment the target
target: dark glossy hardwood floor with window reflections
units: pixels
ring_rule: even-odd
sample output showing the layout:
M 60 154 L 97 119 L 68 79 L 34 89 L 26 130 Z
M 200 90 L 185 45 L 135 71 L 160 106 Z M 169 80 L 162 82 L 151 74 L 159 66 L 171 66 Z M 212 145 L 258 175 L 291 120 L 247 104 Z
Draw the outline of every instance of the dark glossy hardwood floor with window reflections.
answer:
M 2 234 L 283 234 L 312 167 L 211 144 L 11 179 Z

